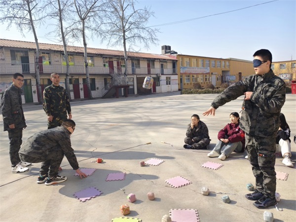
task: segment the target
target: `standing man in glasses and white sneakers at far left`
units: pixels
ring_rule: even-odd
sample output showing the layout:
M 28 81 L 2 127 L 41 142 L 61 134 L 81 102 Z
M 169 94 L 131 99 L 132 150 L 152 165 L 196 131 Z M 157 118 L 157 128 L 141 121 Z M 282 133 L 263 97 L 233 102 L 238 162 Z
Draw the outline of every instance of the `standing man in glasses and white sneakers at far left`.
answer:
M 24 173 L 29 170 L 31 163 L 21 162 L 18 151 L 21 148 L 23 128 L 26 128 L 24 111 L 22 108 L 22 86 L 24 75 L 13 74 L 12 85 L 7 88 L 1 97 L 1 111 L 4 131 L 8 131 L 9 156 L 12 173 Z

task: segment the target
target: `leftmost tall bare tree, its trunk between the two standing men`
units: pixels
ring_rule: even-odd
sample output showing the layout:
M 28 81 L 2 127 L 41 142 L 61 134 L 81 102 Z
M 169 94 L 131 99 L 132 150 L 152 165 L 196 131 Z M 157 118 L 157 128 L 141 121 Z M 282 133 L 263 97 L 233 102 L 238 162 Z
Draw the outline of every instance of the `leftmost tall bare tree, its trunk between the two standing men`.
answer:
M 0 22 L 7 22 L 7 30 L 11 25 L 15 25 L 20 33 L 25 37 L 24 32 L 33 32 L 36 43 L 35 69 L 36 85 L 38 92 L 38 102 L 42 103 L 42 92 L 39 74 L 39 43 L 35 25 L 42 23 L 43 5 L 41 0 L 0 0 Z

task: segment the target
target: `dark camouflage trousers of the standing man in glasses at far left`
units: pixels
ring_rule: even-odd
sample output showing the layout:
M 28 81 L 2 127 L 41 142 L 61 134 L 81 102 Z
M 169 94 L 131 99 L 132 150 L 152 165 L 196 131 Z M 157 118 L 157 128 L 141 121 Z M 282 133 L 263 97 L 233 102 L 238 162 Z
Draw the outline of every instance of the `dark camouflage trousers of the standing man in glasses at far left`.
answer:
M 22 145 L 23 129 L 10 129 L 8 130 L 8 139 L 9 139 L 9 156 L 11 166 L 15 167 L 16 164 L 21 162 L 18 151 Z

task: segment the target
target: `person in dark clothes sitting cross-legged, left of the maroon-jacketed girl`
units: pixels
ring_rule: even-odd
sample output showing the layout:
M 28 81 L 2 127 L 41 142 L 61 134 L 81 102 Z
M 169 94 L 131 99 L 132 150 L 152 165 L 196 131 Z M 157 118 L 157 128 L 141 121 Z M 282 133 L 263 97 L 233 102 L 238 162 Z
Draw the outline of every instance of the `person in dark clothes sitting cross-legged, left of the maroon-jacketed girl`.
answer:
M 191 123 L 188 124 L 184 141 L 183 147 L 185 149 L 207 149 L 210 144 L 208 127 L 200 121 L 197 114 L 191 116 Z

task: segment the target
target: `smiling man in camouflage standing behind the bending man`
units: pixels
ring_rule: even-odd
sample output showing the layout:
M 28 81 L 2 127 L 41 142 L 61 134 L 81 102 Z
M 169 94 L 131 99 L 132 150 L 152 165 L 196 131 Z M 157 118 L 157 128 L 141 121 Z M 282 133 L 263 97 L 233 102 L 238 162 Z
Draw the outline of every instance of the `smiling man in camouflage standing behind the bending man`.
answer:
M 61 126 L 62 122 L 72 118 L 70 100 L 67 91 L 60 86 L 60 75 L 50 75 L 52 85 L 47 86 L 43 91 L 43 110 L 47 114 L 48 129 Z

